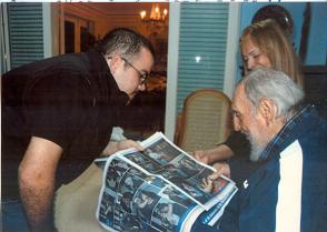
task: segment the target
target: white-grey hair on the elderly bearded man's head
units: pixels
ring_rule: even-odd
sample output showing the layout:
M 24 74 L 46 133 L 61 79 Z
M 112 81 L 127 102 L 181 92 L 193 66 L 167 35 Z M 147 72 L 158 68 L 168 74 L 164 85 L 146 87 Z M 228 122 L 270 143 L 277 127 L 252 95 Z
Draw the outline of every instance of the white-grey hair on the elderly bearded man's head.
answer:
M 277 117 L 284 117 L 286 121 L 296 113 L 296 107 L 305 97 L 304 91 L 287 74 L 267 68 L 252 70 L 241 83 L 255 109 L 261 99 L 271 100 L 277 107 Z

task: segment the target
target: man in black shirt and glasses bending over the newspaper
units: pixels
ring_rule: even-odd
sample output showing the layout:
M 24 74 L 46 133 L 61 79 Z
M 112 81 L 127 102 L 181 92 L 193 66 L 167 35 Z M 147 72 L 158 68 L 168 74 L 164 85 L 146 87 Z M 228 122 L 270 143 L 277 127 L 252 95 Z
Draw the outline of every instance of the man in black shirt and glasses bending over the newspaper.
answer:
M 142 149 L 131 140 L 109 140 L 119 109 L 145 90 L 152 64 L 150 42 L 121 28 L 89 52 L 3 74 L 2 201 L 21 199 L 31 231 L 56 231 L 53 192 L 97 155 Z

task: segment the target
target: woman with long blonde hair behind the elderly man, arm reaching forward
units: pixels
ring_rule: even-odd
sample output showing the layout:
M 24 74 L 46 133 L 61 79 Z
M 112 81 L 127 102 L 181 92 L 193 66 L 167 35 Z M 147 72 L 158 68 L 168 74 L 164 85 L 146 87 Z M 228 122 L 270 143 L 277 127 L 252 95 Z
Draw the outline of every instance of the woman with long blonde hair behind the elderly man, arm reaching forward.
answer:
M 304 89 L 299 60 L 295 53 L 289 34 L 275 20 L 266 19 L 247 27 L 240 37 L 239 49 L 242 56 L 245 74 L 254 68 L 266 67 L 285 72 Z M 238 127 L 236 120 L 234 120 L 234 127 Z M 249 142 L 246 137 L 240 132 L 232 132 L 227 141 L 217 148 L 196 151 L 195 158 L 201 162 L 212 164 L 227 160 L 234 154 L 248 159 L 250 152 Z M 230 168 L 227 163 L 217 163 L 215 168 L 218 172 L 230 175 Z M 252 171 L 250 168 L 242 167 L 241 169 L 241 174 L 239 174 L 241 176 L 232 176 L 237 182 L 241 182 Z

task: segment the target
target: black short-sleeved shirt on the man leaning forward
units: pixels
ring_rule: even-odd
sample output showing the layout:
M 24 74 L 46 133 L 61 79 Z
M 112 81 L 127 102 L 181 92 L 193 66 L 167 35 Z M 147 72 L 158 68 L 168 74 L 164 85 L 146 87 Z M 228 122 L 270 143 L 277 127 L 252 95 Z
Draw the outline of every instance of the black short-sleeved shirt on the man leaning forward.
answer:
M 120 108 L 128 101 L 105 58 L 95 51 L 23 65 L 6 73 L 1 82 L 4 194 L 17 180 L 31 137 L 63 149 L 57 183 L 67 183 L 106 148 Z

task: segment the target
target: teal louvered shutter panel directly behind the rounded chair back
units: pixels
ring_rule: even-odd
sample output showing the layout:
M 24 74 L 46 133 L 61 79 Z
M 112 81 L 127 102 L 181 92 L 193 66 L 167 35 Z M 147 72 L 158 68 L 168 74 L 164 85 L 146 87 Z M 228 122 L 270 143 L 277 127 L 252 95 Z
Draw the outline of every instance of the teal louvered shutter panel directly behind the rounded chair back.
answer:
M 177 112 L 190 92 L 224 89 L 228 11 L 228 3 L 181 3 Z

